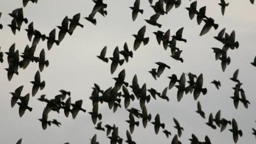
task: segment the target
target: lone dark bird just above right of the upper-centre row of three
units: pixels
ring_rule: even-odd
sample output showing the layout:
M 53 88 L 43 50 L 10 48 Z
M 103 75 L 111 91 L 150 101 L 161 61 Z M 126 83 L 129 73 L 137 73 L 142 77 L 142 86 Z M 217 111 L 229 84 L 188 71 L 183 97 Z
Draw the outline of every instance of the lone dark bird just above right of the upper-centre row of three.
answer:
M 138 34 L 137 34 L 137 35 L 132 35 L 132 36 L 135 37 L 134 45 L 133 45 L 134 51 L 136 51 L 136 50 L 140 47 L 141 42 L 143 42 L 144 45 L 147 45 L 147 44 L 148 44 L 149 38 L 148 38 L 148 37 L 147 37 L 147 38 L 144 38 L 145 31 L 146 31 L 146 26 L 143 26 L 143 27 L 138 31 Z

